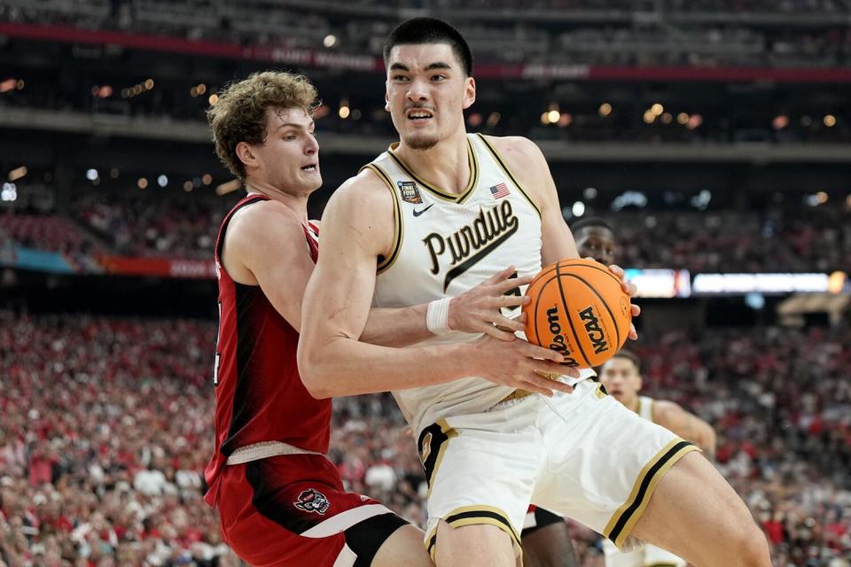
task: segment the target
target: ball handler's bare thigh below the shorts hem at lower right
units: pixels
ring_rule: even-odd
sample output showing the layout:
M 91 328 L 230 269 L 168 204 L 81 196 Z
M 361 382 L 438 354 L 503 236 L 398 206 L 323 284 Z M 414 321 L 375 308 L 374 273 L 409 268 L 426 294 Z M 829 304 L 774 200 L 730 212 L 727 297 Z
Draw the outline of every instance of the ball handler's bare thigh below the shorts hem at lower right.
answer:
M 633 535 L 696 564 L 769 565 L 745 502 L 701 454 L 660 479 Z

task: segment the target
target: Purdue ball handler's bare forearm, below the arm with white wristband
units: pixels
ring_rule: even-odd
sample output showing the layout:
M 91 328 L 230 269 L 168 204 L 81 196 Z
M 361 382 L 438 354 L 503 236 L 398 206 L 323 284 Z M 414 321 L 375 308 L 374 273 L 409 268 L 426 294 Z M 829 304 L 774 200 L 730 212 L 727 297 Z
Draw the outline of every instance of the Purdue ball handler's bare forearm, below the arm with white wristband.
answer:
M 317 399 L 407 390 L 469 376 L 466 344 L 387 348 L 352 338 L 299 345 L 299 372 Z

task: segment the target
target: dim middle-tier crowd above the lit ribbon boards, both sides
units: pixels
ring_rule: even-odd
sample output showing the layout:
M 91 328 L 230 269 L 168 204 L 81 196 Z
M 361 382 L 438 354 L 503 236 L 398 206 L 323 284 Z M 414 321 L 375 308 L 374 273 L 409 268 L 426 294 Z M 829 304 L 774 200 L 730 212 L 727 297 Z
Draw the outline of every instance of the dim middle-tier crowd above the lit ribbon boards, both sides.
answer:
M 14 242 L 71 259 L 104 252 L 207 259 L 219 222 L 235 200 L 90 195 L 74 203 L 76 223 L 51 214 L 4 214 L 0 246 Z M 601 216 L 617 229 L 620 262 L 631 268 L 830 272 L 851 266 L 851 208 L 845 204 L 803 211 L 772 206 L 759 214 L 628 209 Z

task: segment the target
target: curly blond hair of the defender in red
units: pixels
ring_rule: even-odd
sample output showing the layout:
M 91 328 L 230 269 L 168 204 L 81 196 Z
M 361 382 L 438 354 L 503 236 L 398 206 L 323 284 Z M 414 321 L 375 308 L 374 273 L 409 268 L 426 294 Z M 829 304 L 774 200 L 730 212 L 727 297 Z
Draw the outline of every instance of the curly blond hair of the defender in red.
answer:
M 316 87 L 301 74 L 254 73 L 217 95 L 218 101 L 207 109 L 215 153 L 239 179 L 245 179 L 246 166 L 237 155 L 237 144 L 262 144 L 266 140 L 267 110 L 301 108 L 312 115 L 316 109 Z

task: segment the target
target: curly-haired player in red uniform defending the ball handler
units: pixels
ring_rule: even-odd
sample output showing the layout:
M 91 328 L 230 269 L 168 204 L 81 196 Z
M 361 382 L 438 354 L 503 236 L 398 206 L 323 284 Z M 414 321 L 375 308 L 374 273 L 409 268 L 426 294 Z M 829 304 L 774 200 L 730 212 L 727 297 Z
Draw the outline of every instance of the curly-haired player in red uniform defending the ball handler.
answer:
M 322 184 L 310 116 L 315 100 L 304 77 L 262 73 L 231 85 L 208 113 L 216 152 L 248 195 L 223 220 L 215 247 L 216 453 L 205 471 L 205 499 L 218 507 L 230 547 L 253 565 L 430 565 L 423 532 L 378 501 L 344 491 L 324 457 L 331 400 L 312 398 L 296 365 L 301 298 L 317 255 L 318 227 L 307 216 L 308 196 Z M 512 335 L 493 323 L 521 328 L 498 315 L 499 307 L 525 302 L 504 296 L 528 283 L 509 280 L 512 272 L 458 298 L 450 306 L 453 328 L 489 325 L 497 336 Z M 425 319 L 426 306 L 375 310 L 366 337 L 386 344 L 418 340 L 429 333 Z M 490 358 L 504 344 L 493 343 Z M 529 376 L 517 383 L 549 385 L 534 370 L 554 365 L 531 357 L 551 351 L 527 353 Z

